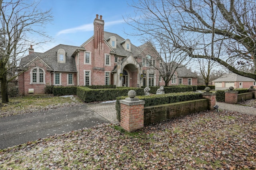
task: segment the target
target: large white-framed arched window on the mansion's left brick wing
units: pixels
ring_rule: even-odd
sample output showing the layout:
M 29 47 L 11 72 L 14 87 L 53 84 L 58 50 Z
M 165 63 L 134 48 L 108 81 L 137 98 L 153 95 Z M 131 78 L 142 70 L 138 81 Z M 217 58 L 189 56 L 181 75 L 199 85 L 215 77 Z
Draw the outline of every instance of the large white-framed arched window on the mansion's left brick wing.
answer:
M 42 68 L 34 68 L 30 72 L 30 84 L 45 84 L 45 72 Z

